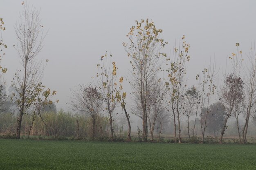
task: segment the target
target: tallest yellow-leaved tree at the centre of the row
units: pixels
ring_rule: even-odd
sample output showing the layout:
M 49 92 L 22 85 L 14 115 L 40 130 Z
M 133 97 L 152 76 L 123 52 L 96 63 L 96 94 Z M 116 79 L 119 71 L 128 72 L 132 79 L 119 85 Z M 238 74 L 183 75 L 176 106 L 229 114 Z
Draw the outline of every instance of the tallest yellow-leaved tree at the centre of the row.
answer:
M 160 50 L 167 44 L 160 34 L 162 29 L 157 29 L 153 21 L 141 20 L 135 21 L 136 26 L 130 28 L 130 32 L 126 35 L 129 39 L 128 43 L 123 43 L 130 64 L 132 66 L 132 78 L 130 81 L 133 94 L 139 96 L 136 102 L 141 105 L 142 111 L 142 134 L 144 141 L 148 137 L 148 117 L 147 117 L 147 100 L 149 94 L 150 79 L 161 70 L 161 58 L 166 56 Z

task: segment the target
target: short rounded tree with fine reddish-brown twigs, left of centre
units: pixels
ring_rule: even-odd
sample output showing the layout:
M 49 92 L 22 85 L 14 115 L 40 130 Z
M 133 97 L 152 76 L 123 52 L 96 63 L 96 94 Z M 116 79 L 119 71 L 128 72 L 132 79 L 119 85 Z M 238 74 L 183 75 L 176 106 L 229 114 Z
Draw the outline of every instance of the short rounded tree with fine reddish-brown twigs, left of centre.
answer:
M 102 96 L 99 90 L 92 85 L 78 85 L 78 88 L 72 92 L 72 101 L 70 105 L 73 110 L 81 111 L 90 115 L 92 119 L 92 139 L 95 139 L 96 121 L 102 110 Z

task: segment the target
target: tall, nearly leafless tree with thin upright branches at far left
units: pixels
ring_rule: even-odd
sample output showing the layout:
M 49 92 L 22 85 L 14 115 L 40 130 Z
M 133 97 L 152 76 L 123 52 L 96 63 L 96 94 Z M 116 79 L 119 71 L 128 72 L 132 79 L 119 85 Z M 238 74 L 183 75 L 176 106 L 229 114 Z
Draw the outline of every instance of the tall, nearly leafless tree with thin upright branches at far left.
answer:
M 35 7 L 30 8 L 29 4 L 24 5 L 24 10 L 20 13 L 20 20 L 15 25 L 15 32 L 18 40 L 15 48 L 20 57 L 22 69 L 18 70 L 13 78 L 12 86 L 18 95 L 14 94 L 12 99 L 19 110 L 16 139 L 20 139 L 22 116 L 38 99 L 40 100 L 38 97 L 41 93 L 47 95 L 50 91 L 47 89 L 47 93 L 44 93 L 45 86 L 40 82 L 45 66 L 42 61 L 36 59 L 36 56 L 43 47 L 45 34 L 43 34 L 39 12 Z M 53 91 L 52 94 L 55 95 L 56 91 Z

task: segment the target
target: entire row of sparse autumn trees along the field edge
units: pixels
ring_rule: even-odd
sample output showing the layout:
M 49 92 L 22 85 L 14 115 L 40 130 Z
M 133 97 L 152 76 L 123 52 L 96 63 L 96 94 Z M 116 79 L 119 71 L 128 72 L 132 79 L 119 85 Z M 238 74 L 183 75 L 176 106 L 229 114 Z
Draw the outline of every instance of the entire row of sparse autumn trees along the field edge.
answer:
M 16 138 L 20 139 L 20 129 L 22 117 L 29 114 L 32 117 L 30 129 L 33 128 L 34 117 L 41 116 L 41 111 L 45 105 L 53 104 L 52 96 L 56 91 L 51 91 L 42 83 L 42 74 L 45 65 L 36 59 L 37 54 L 42 49 L 43 26 L 40 23 L 38 11 L 29 4 L 24 5 L 24 11 L 20 15 L 20 21 L 15 26 L 18 43 L 15 46 L 20 57 L 22 69 L 15 73 L 12 86 L 15 93 L 11 96 L 11 101 L 16 104 L 18 110 Z M 5 28 L 0 18 L 1 30 Z M 129 107 L 133 113 L 142 120 L 142 137 L 144 141 L 148 139 L 150 133 L 151 140 L 155 125 L 166 120 L 166 113 L 173 121 L 175 141 L 182 142 L 181 121 L 186 117 L 187 131 L 189 139 L 195 139 L 195 125 L 200 117 L 202 142 L 204 142 L 205 132 L 209 128 L 210 115 L 222 113 L 222 117 L 215 117 L 222 122 L 220 125 L 220 143 L 227 129 L 227 122 L 230 117 L 235 117 L 238 128 L 240 143 L 246 143 L 247 130 L 250 118 L 255 115 L 256 103 L 256 55 L 251 49 L 247 74 L 241 78 L 242 51 L 239 51 L 239 43 L 236 43 L 237 52 L 232 53 L 230 63 L 232 69 L 225 74 L 224 84 L 218 88 L 216 79 L 218 70 L 215 61 L 210 62 L 209 67 L 204 68 L 202 73 L 195 76 L 197 86 L 190 88 L 186 85 L 186 65 L 190 61 L 190 45 L 182 37 L 182 43 L 175 46 L 173 54 L 167 56 L 162 53 L 162 49 L 168 44 L 161 38 L 162 29 L 157 29 L 153 21 L 136 21 L 136 25 L 130 28 L 127 34 L 128 43 L 123 42 L 123 46 L 130 57 L 129 84 L 132 88 L 132 106 Z M 1 39 L 1 48 L 7 48 Z M 1 49 L 2 51 L 2 49 Z M 108 115 L 110 139 L 114 140 L 115 130 L 115 110 L 118 106 L 124 110 L 128 124 L 128 140 L 131 140 L 130 115 L 126 109 L 126 92 L 123 89 L 124 77 L 118 77 L 117 65 L 112 61 L 112 55 L 101 56 L 102 64 L 97 64 L 98 73 L 93 85 L 79 85 L 73 90 L 73 97 L 70 105 L 76 111 L 89 115 L 92 121 L 92 138 L 95 137 L 96 126 L 102 112 Z M 48 62 L 48 60 L 47 60 Z M 2 68 L 2 73 L 6 72 Z M 161 77 L 162 73 L 165 77 Z M 4 95 L 1 96 L 4 99 Z M 211 105 L 213 97 L 219 98 L 219 103 Z M 58 102 L 58 100 L 56 100 Z M 218 108 L 217 108 L 218 106 Z M 217 110 L 215 110 L 217 108 Z M 242 129 L 239 126 L 239 115 L 244 115 L 245 124 Z M 189 124 L 194 118 L 194 124 Z M 44 123 L 47 126 L 46 123 Z M 214 126 L 214 125 L 213 125 Z M 191 132 L 192 130 L 192 132 Z M 148 132 L 149 131 L 149 132 Z M 160 130 L 161 133 L 161 130 Z M 192 135 L 192 137 L 191 137 Z

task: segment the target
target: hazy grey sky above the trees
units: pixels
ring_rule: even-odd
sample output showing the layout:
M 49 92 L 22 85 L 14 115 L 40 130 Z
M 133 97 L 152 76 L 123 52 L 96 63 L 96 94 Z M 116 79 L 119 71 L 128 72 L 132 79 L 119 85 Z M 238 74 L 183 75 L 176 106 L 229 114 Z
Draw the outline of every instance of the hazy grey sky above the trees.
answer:
M 8 68 L 7 85 L 20 68 L 14 24 L 23 10 L 22 0 L 0 0 L 0 18 L 6 31 L 2 38 L 8 45 L 2 65 Z M 247 51 L 256 40 L 255 0 L 31 0 L 37 9 L 45 32 L 44 47 L 38 57 L 49 59 L 43 84 L 57 91 L 58 108 L 67 109 L 70 88 L 87 84 L 97 73 L 96 65 L 105 51 L 113 54 L 119 75 L 127 75 L 129 59 L 122 46 L 135 20 L 152 19 L 163 29 L 162 38 L 170 53 L 182 35 L 191 44 L 188 76 L 195 75 L 215 56 L 223 64 L 227 55 Z M 126 91 L 130 87 L 125 86 Z

